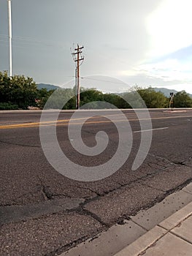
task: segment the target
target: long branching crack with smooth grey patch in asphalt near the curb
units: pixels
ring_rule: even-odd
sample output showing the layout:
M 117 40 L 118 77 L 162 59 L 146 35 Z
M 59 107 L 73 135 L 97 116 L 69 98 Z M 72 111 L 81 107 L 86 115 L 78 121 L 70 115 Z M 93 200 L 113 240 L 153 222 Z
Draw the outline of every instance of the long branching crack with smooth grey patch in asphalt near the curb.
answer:
M 185 160 L 185 161 L 187 161 L 187 160 Z M 173 163 L 170 165 L 173 165 Z M 66 195 L 64 193 L 63 194 L 53 194 L 52 192 L 50 192 L 48 190 L 48 187 L 46 187 L 45 184 L 42 183 L 41 178 L 38 177 L 39 181 L 40 181 L 39 186 L 41 187 L 42 194 L 45 197 L 45 202 L 37 203 L 37 204 L 33 204 L 33 205 L 24 205 L 24 206 L 20 206 L 18 204 L 0 206 L 0 214 L 1 214 L 1 216 L 3 216 L 3 217 L 1 217 L 0 224 L 4 224 L 7 222 L 18 222 L 19 220 L 23 220 L 23 219 L 36 218 L 36 217 L 40 217 L 40 216 L 46 215 L 46 214 L 53 214 L 58 211 L 67 211 L 67 210 L 77 211 L 77 208 L 80 207 L 80 209 L 78 211 L 80 211 L 84 214 L 91 215 L 91 217 L 93 217 L 97 221 L 101 222 L 102 225 L 107 226 L 107 224 L 102 222 L 101 219 L 99 219 L 99 217 L 97 217 L 95 214 L 89 213 L 88 210 L 86 210 L 84 207 L 88 203 L 93 202 L 94 200 L 101 199 L 105 195 L 108 195 L 112 192 L 118 191 L 119 189 L 129 187 L 131 184 L 134 184 L 135 182 L 142 183 L 142 181 L 145 181 L 144 180 L 145 178 L 147 178 L 149 176 L 154 177 L 160 171 L 161 172 L 167 171 L 167 168 L 169 168 L 169 166 L 168 167 L 166 166 L 163 169 L 161 168 L 161 169 L 155 170 L 155 172 L 153 172 L 153 173 L 147 173 L 139 178 L 134 179 L 133 181 L 127 182 L 126 184 L 121 184 L 120 182 L 118 182 L 118 185 L 119 185 L 118 187 L 115 187 L 114 189 L 108 189 L 106 191 L 103 191 L 102 193 L 96 192 L 94 189 L 91 189 L 91 188 L 79 187 L 82 189 L 88 189 L 89 191 L 96 194 L 95 197 L 88 197 L 88 198 L 69 197 L 69 195 Z M 186 184 L 191 182 L 191 180 L 192 179 L 188 179 L 187 181 L 185 181 L 185 183 L 180 184 L 178 187 L 166 191 L 165 196 L 171 194 L 172 192 L 174 192 L 178 189 L 182 189 L 183 187 L 185 187 Z M 150 186 L 147 184 L 142 184 L 142 185 L 144 185 L 145 187 L 158 189 L 156 187 L 153 187 L 153 186 Z M 163 189 L 158 189 L 158 190 L 161 192 L 165 192 Z M 53 197 L 56 197 L 59 195 L 62 195 L 65 198 L 62 198 L 62 199 L 54 198 L 54 200 L 53 200 Z M 22 196 L 20 196 L 20 197 L 22 197 Z M 62 203 L 62 206 L 61 206 L 61 203 Z M 14 212 L 14 214 L 13 214 L 13 212 Z

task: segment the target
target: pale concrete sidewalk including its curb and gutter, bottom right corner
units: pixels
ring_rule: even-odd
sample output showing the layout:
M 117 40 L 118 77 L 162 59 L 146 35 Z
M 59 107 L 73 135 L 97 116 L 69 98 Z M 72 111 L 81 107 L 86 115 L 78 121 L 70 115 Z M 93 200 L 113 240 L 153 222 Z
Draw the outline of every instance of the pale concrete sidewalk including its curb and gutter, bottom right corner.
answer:
M 180 228 L 177 228 L 176 226 L 180 224 Z M 185 230 L 185 226 L 187 226 L 187 230 Z M 61 256 L 192 256 L 191 230 L 192 183 L 168 195 L 154 206 L 130 216 L 130 219 L 124 220 L 123 225 L 113 225 L 108 230 L 99 233 L 98 236 L 88 238 L 63 252 Z M 175 238 L 176 241 L 172 238 Z M 166 252 L 164 252 L 166 249 L 164 241 L 168 241 L 169 246 Z M 174 249 L 177 252 L 182 249 L 178 241 L 190 245 L 188 253 L 182 251 L 178 255 L 174 252 Z M 176 247 L 177 244 L 179 249 Z M 161 247 L 158 248 L 160 245 Z M 158 252 L 152 251 L 157 248 Z M 152 254 L 148 255 L 148 253 Z

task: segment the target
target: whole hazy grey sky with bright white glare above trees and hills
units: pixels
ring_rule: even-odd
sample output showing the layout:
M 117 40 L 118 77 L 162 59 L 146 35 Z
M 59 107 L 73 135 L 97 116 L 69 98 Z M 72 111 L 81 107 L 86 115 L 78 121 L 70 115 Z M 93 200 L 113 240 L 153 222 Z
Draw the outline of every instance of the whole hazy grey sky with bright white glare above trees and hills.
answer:
M 74 84 L 71 53 L 79 43 L 82 86 L 192 93 L 191 10 L 191 0 L 12 0 L 12 75 Z M 0 24 L 2 71 L 9 69 L 7 0 L 0 0 Z

